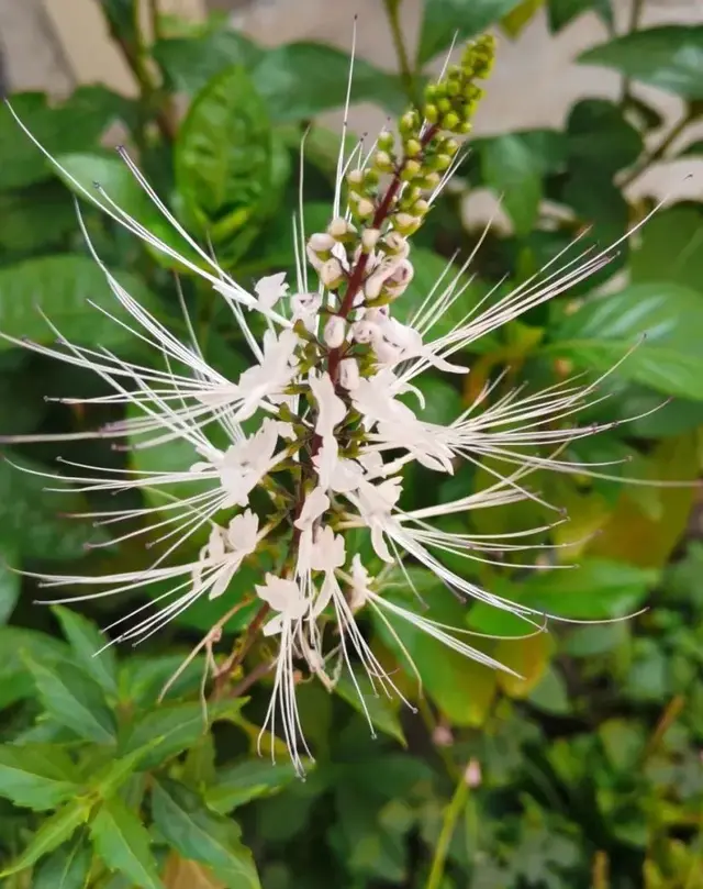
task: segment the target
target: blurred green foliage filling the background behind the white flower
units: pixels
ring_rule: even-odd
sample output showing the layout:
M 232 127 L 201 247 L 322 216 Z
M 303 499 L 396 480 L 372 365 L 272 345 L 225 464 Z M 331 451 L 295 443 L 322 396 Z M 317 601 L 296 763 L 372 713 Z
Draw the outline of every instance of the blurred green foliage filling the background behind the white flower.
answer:
M 654 164 L 702 153 L 687 134 L 703 115 L 703 27 L 641 27 L 643 5 L 634 0 L 626 30 L 616 31 L 612 0 L 425 0 L 412 49 L 402 0 L 384 0 L 398 74 L 357 59 L 354 99 L 390 112 L 415 96 L 425 66 L 455 35 L 496 26 L 520 40 L 542 7 L 555 35 L 578 27 L 584 13 L 600 16 L 610 37 L 579 62 L 622 76 L 618 100 L 581 99 L 561 130 L 473 141 L 458 185 L 419 238 L 408 311 L 446 257 L 469 255 L 483 236 L 462 209 L 471 190 L 502 196 L 510 229 L 486 233 L 469 305 L 492 287 L 503 292 L 548 263 L 553 270 L 622 238 L 654 207 L 654 199 L 633 201 L 629 186 Z M 0 329 L 16 340 L 48 344 L 64 335 L 148 360 L 138 341 L 93 308 L 114 312 L 76 224 L 72 189 L 118 280 L 187 335 L 172 286 L 174 269 L 180 271 L 208 359 L 236 374 L 242 344 L 216 296 L 182 263 L 143 246 L 90 203 L 97 182 L 189 263 L 205 262 L 177 243 L 127 167 L 104 147 L 105 137 L 115 127 L 124 134 L 170 212 L 248 286 L 254 276 L 293 265 L 289 220 L 300 167 L 309 229 L 326 222 L 336 136 L 314 119 L 343 103 L 349 58 L 314 43 L 266 48 L 222 16 L 199 24 L 156 16 L 149 43 L 133 0 L 101 7 L 138 98 L 100 85 L 62 102 L 40 93 L 12 97 L 16 114 L 70 178 L 62 181 L 7 108 L 0 110 Z M 680 120 L 665 124 L 640 82 L 679 97 Z M 524 101 L 525 85 L 515 90 Z M 183 100 L 185 116 L 177 111 Z M 576 253 L 561 256 L 576 235 Z M 46 494 L 41 476 L 16 471 L 16 463 L 45 471 L 58 456 L 54 445 L 7 448 L 0 463 L 2 886 L 701 889 L 703 544 L 690 522 L 696 494 L 694 487 L 623 482 L 700 475 L 702 242 L 703 203 L 660 210 L 593 278 L 576 280 L 568 293 L 473 344 L 465 390 L 445 379 L 424 385 L 427 410 L 442 420 L 504 367 L 509 382 L 527 387 L 571 371 L 588 379 L 636 346 L 603 378 L 603 398 L 581 418 L 612 427 L 569 448 L 573 460 L 605 464 L 602 475 L 540 478 L 570 520 L 551 529 L 558 548 L 543 552 L 579 567 L 528 574 L 510 554 L 476 563 L 477 579 L 491 590 L 573 623 L 556 624 L 548 636 L 510 640 L 521 632 L 510 614 L 467 607 L 432 575 L 412 569 L 431 616 L 492 634 L 477 645 L 523 679 L 496 676 L 432 638 L 403 633 L 424 679 L 419 697 L 397 638 L 388 625 L 371 623 L 379 659 L 389 668 L 398 659 L 399 688 L 417 712 L 367 689 L 379 733 L 372 740 L 350 681 L 335 694 L 303 685 L 301 710 L 316 757 L 304 782 L 294 779 L 275 738 L 265 738 L 264 759 L 256 756 L 266 677 L 249 687 L 239 673 L 204 713 L 201 652 L 159 702 L 202 631 L 250 586 L 253 569 L 237 576 L 227 603 L 199 603 L 137 652 L 108 648 L 94 656 L 105 642 L 98 626 L 114 626 L 142 597 L 96 599 L 70 611 L 36 608 L 31 571 L 58 562 L 76 574 L 126 570 L 147 556 L 130 540 L 110 544 L 104 529 L 65 518 L 109 510 L 104 499 Z M 109 405 L 78 410 L 56 400 L 99 396 L 100 380 L 11 340 L 0 346 L 0 434 L 81 433 L 114 419 Z M 144 459 L 172 468 L 182 460 L 172 445 L 153 454 L 130 456 L 75 435 L 60 457 L 118 468 Z M 439 494 L 487 487 L 491 478 L 490 466 L 467 464 Z M 426 499 L 424 470 L 406 496 L 413 505 Z M 538 501 L 527 501 L 479 511 L 470 530 L 510 534 L 551 521 Z M 402 577 L 389 578 L 388 594 L 408 594 Z M 631 620 L 607 622 L 643 608 Z M 243 613 L 227 624 L 225 642 L 233 643 L 245 620 Z M 248 677 L 261 658 L 255 647 Z M 268 762 L 271 748 L 279 753 L 276 766 Z

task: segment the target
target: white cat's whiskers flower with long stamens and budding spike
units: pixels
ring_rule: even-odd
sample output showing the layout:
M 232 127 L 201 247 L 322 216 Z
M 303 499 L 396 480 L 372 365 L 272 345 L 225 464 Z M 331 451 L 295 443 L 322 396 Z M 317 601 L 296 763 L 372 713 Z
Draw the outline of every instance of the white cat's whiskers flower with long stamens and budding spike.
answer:
M 406 622 L 467 657 L 502 668 L 470 645 L 468 631 L 423 616 L 420 597 L 417 610 L 384 597 L 383 577 L 390 567 L 412 588 L 405 568 L 411 560 L 460 596 L 510 610 L 542 626 L 544 615 L 481 589 L 448 568 L 443 558 L 451 554 L 490 560 L 496 546 L 528 548 L 529 542 L 523 540 L 528 535 L 498 541 L 449 533 L 437 520 L 536 498 L 525 487 L 525 477 L 537 466 L 581 469 L 560 460 L 559 451 L 598 431 L 592 425 L 569 425 L 569 418 L 594 391 L 593 386 L 569 382 L 537 395 L 514 389 L 500 397 L 495 382 L 488 384 L 450 424 L 423 419 L 423 397 L 414 385 L 421 374 L 428 368 L 467 374 L 459 357 L 467 346 L 607 262 L 601 253 L 565 263 L 558 270 L 547 269 L 507 296 L 489 295 L 470 305 L 450 330 L 444 326 L 443 333 L 434 334 L 437 321 L 460 304 L 466 290 L 465 268 L 453 271 L 448 266 L 408 323 L 399 320 L 395 307 L 413 279 L 409 236 L 456 167 L 460 152 L 453 134 L 470 129 L 480 97 L 476 81 L 488 75 L 491 58 L 490 38 L 470 45 L 461 64 L 428 87 L 422 111 L 412 109 L 401 118 L 398 137 L 382 132 L 368 157 L 360 145 L 349 157 L 341 153 L 333 218 L 325 231 L 310 234 L 299 245 L 292 291 L 282 274 L 259 280 L 252 293 L 237 285 L 188 235 L 124 153 L 137 181 L 188 244 L 189 255 L 196 252 L 199 260 L 180 256 L 104 191 L 97 197 L 85 192 L 137 237 L 208 281 L 226 301 L 252 353 L 252 366 L 238 379 L 227 379 L 212 368 L 194 336 L 190 343 L 181 342 L 102 264 L 115 300 L 131 316 L 136 335 L 163 359 L 160 365 L 156 359 L 141 365 L 100 348 L 66 343 L 60 331 L 56 331 L 58 348 L 22 343 L 88 368 L 111 386 L 110 396 L 87 401 L 131 407 L 127 419 L 97 434 L 129 438 L 138 447 L 178 440 L 192 449 L 192 464 L 182 471 L 115 473 L 81 466 L 70 479 L 72 485 L 91 491 L 158 491 L 174 482 L 197 482 L 196 493 L 171 497 L 158 509 L 110 513 L 113 526 L 157 513 L 152 531 L 163 532 L 159 540 L 168 545 L 148 570 L 45 576 L 44 582 L 102 587 L 97 596 L 166 585 L 166 592 L 129 615 L 131 625 L 119 635 L 120 640 L 143 640 L 197 599 L 226 597 L 242 564 L 276 542 L 283 554 L 280 564 L 250 590 L 258 601 L 253 626 L 278 643 L 265 727 L 282 731 L 301 769 L 301 751 L 306 747 L 295 707 L 299 667 L 326 684 L 334 681 L 337 670 L 346 669 L 356 684 L 354 666 L 361 665 L 375 688 L 394 690 L 357 625 L 360 610 L 376 612 L 401 648 L 397 627 Z M 70 179 L 66 170 L 64 176 Z M 77 181 L 74 185 L 82 190 Z M 308 284 L 309 267 L 319 280 L 313 289 Z M 255 315 L 266 327 L 260 341 L 254 333 Z M 246 421 L 250 421 L 247 431 Z M 537 456 L 540 446 L 550 453 Z M 453 474 L 457 460 L 478 464 L 486 456 L 498 457 L 507 467 L 503 474 L 495 471 L 488 490 L 423 509 L 399 505 L 408 464 L 417 462 L 442 477 Z M 254 497 L 257 492 L 261 496 Z M 170 556 L 181 553 L 185 543 L 203 529 L 208 542 L 194 560 L 170 565 Z M 375 564 L 388 566 L 376 569 L 376 577 L 350 544 L 349 532 L 356 529 L 368 531 Z M 141 530 L 131 530 L 114 540 L 137 533 Z M 357 690 L 362 702 L 358 686 Z

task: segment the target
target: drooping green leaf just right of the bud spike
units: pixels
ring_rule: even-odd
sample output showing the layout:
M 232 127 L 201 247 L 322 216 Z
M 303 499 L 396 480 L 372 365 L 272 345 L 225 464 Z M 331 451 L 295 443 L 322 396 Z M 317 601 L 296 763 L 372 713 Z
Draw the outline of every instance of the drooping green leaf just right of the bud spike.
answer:
M 542 165 L 518 134 L 495 136 L 481 146 L 483 181 L 502 199 L 517 235 L 527 234 L 542 199 Z

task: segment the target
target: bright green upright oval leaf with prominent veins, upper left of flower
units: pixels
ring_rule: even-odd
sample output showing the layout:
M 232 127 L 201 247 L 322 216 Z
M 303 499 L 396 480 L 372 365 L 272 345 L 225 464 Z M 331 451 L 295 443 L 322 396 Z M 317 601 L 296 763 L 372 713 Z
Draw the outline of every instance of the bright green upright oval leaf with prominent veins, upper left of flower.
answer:
M 176 184 L 189 215 L 215 245 L 246 244 L 268 209 L 274 175 L 267 109 L 243 68 L 211 80 L 176 143 Z

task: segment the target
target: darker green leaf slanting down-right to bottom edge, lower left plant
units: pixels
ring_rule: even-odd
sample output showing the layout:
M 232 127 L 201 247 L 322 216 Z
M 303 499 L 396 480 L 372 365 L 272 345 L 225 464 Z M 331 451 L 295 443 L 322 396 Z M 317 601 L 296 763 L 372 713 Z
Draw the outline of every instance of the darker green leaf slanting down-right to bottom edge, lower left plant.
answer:
M 164 838 L 185 858 L 208 865 L 232 889 L 258 889 L 256 865 L 239 827 L 209 811 L 197 793 L 176 781 L 154 781 L 152 812 Z

